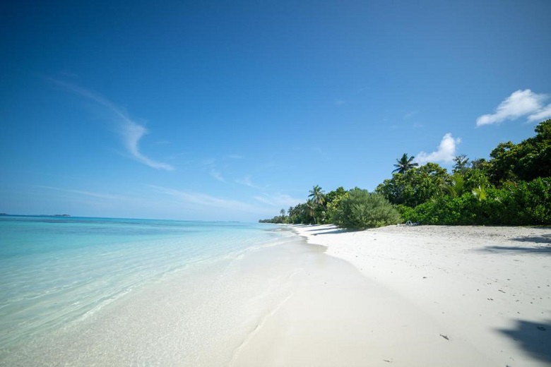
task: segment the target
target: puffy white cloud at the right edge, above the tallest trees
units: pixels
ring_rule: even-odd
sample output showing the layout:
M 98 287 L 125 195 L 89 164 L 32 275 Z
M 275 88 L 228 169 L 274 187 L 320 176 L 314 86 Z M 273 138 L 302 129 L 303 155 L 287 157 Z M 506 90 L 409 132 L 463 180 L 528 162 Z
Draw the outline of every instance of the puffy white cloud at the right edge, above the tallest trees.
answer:
M 476 126 L 499 124 L 523 116 L 527 116 L 530 122 L 548 119 L 551 117 L 551 104 L 544 103 L 548 98 L 548 95 L 534 93 L 529 89 L 517 90 L 506 97 L 493 114 L 479 116 Z

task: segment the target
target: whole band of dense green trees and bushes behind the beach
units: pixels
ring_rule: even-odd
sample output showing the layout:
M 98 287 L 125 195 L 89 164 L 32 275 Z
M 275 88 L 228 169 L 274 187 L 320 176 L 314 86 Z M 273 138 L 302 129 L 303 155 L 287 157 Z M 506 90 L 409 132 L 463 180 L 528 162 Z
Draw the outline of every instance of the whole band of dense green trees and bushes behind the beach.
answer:
M 392 178 L 374 193 L 314 186 L 306 203 L 261 222 L 365 229 L 398 222 L 420 224 L 551 224 L 551 119 L 519 144 L 500 143 L 490 160 L 455 158 L 451 174 L 435 163 L 396 160 Z

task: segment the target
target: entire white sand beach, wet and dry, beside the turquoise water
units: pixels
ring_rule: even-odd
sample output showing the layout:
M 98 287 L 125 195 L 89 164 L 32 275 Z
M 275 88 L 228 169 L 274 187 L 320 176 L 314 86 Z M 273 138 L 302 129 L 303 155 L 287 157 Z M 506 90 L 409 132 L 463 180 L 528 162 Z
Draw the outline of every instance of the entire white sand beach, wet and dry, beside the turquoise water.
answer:
M 288 233 L 160 277 L 0 366 L 551 365 L 550 229 L 274 230 Z

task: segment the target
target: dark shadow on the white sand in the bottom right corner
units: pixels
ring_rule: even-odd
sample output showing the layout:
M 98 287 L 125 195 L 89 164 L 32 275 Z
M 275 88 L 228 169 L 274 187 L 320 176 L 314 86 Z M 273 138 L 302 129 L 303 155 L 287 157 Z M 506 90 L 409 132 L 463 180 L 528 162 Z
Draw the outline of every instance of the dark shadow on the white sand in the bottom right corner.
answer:
M 517 320 L 511 330 L 499 329 L 499 332 L 514 339 L 519 347 L 533 358 L 545 363 L 551 363 L 551 322 L 532 323 Z

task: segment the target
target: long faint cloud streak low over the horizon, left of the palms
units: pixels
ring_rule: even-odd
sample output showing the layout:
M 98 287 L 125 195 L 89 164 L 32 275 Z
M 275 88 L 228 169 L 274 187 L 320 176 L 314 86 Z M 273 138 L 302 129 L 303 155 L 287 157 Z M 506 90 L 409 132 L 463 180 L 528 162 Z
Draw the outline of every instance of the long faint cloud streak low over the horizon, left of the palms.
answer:
M 216 198 L 215 196 L 205 193 L 194 193 L 191 191 L 179 191 L 173 188 L 165 188 L 162 186 L 149 185 L 150 188 L 165 195 L 170 195 L 182 203 L 195 204 L 200 206 L 215 207 L 219 210 L 239 210 L 241 212 L 257 213 L 263 212 L 259 207 L 249 203 L 242 203 L 237 200 L 228 200 Z

